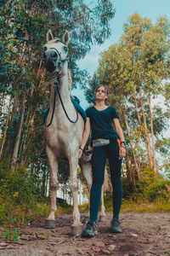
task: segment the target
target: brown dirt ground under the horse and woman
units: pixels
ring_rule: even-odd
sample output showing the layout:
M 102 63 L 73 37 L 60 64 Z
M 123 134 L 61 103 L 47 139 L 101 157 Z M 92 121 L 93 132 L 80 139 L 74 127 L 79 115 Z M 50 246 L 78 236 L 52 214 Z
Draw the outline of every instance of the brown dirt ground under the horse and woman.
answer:
M 0 256 L 170 255 L 169 212 L 121 213 L 122 234 L 110 233 L 111 217 L 107 212 L 105 223 L 98 223 L 99 236 L 90 239 L 71 236 L 71 212 L 57 218 L 54 230 L 43 229 L 45 218 L 38 218 L 20 226 L 19 241 L 0 239 Z

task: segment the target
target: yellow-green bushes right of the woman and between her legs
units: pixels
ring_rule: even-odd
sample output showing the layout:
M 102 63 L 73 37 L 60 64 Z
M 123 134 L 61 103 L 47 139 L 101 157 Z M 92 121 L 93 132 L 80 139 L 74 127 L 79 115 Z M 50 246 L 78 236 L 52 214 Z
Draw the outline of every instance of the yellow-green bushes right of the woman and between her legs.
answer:
M 170 181 L 145 166 L 136 186 L 122 178 L 122 210 L 125 212 L 170 211 Z M 112 192 L 105 195 L 105 208 L 112 211 Z

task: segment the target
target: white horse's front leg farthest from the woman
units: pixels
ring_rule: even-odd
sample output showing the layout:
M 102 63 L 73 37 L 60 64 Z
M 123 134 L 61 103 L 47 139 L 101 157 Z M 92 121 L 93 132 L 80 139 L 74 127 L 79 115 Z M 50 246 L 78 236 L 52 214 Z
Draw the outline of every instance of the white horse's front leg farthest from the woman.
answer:
M 51 207 L 48 218 L 46 219 L 45 228 L 54 229 L 55 227 L 55 212 L 56 206 L 56 192 L 57 192 L 57 172 L 58 172 L 58 160 L 50 148 L 46 148 L 48 161 L 50 166 L 50 190 L 51 190 Z

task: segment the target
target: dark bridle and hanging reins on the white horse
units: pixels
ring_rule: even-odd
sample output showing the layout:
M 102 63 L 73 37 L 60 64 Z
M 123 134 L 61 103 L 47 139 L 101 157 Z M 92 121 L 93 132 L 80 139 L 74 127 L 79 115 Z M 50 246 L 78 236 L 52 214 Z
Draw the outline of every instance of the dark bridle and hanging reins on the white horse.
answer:
M 59 42 L 61 42 L 62 44 L 65 44 L 65 42 L 63 42 L 62 40 L 57 40 Z M 65 45 L 66 46 L 66 45 Z M 69 57 L 68 55 L 66 55 L 65 59 L 64 60 L 61 60 L 61 54 L 59 53 L 59 50 L 56 49 L 56 48 L 49 48 L 49 49 L 54 49 L 57 53 L 57 55 L 59 55 L 59 62 L 58 62 L 58 71 L 55 73 L 55 76 L 56 76 L 56 79 L 54 81 L 54 106 L 53 106 L 53 112 L 52 112 L 52 116 L 51 116 L 51 120 L 49 122 L 48 125 L 46 125 L 46 122 L 44 122 L 44 125 L 45 127 L 49 127 L 51 124 L 52 124 L 52 121 L 54 119 L 54 109 L 55 109 L 55 102 L 56 102 L 56 90 L 58 92 L 58 95 L 59 95 L 59 101 L 61 102 L 61 106 L 65 112 L 65 115 L 67 117 L 67 119 L 69 119 L 69 121 L 73 124 L 76 124 L 77 123 L 77 120 L 78 120 L 78 111 L 77 111 L 77 108 L 76 109 L 76 112 L 77 112 L 77 118 L 75 121 L 71 120 L 70 117 L 68 116 L 68 113 L 66 113 L 66 110 L 65 110 L 65 106 L 62 102 L 62 99 L 61 99 L 61 96 L 60 96 L 60 92 L 59 92 L 59 73 L 61 72 L 61 69 L 62 67 L 65 65 L 65 62 L 69 60 Z M 74 104 L 73 104 L 74 105 Z M 75 107 L 75 106 L 74 106 Z

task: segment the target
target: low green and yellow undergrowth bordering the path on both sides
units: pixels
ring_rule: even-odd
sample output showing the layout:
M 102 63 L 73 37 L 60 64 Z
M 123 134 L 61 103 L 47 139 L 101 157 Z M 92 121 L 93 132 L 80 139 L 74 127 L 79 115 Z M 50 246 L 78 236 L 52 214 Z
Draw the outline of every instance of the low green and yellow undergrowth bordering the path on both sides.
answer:
M 170 212 L 170 182 L 161 175 L 143 172 L 139 183 L 133 186 L 122 179 L 122 212 Z M 0 163 L 0 237 L 8 241 L 18 241 L 20 224 L 28 224 L 35 218 L 47 217 L 50 201 L 41 196 L 37 178 L 20 167 L 17 171 Z M 105 209 L 112 211 L 112 193 L 105 195 Z M 88 203 L 79 207 L 88 211 Z M 71 212 L 66 202 L 58 206 L 55 216 Z

